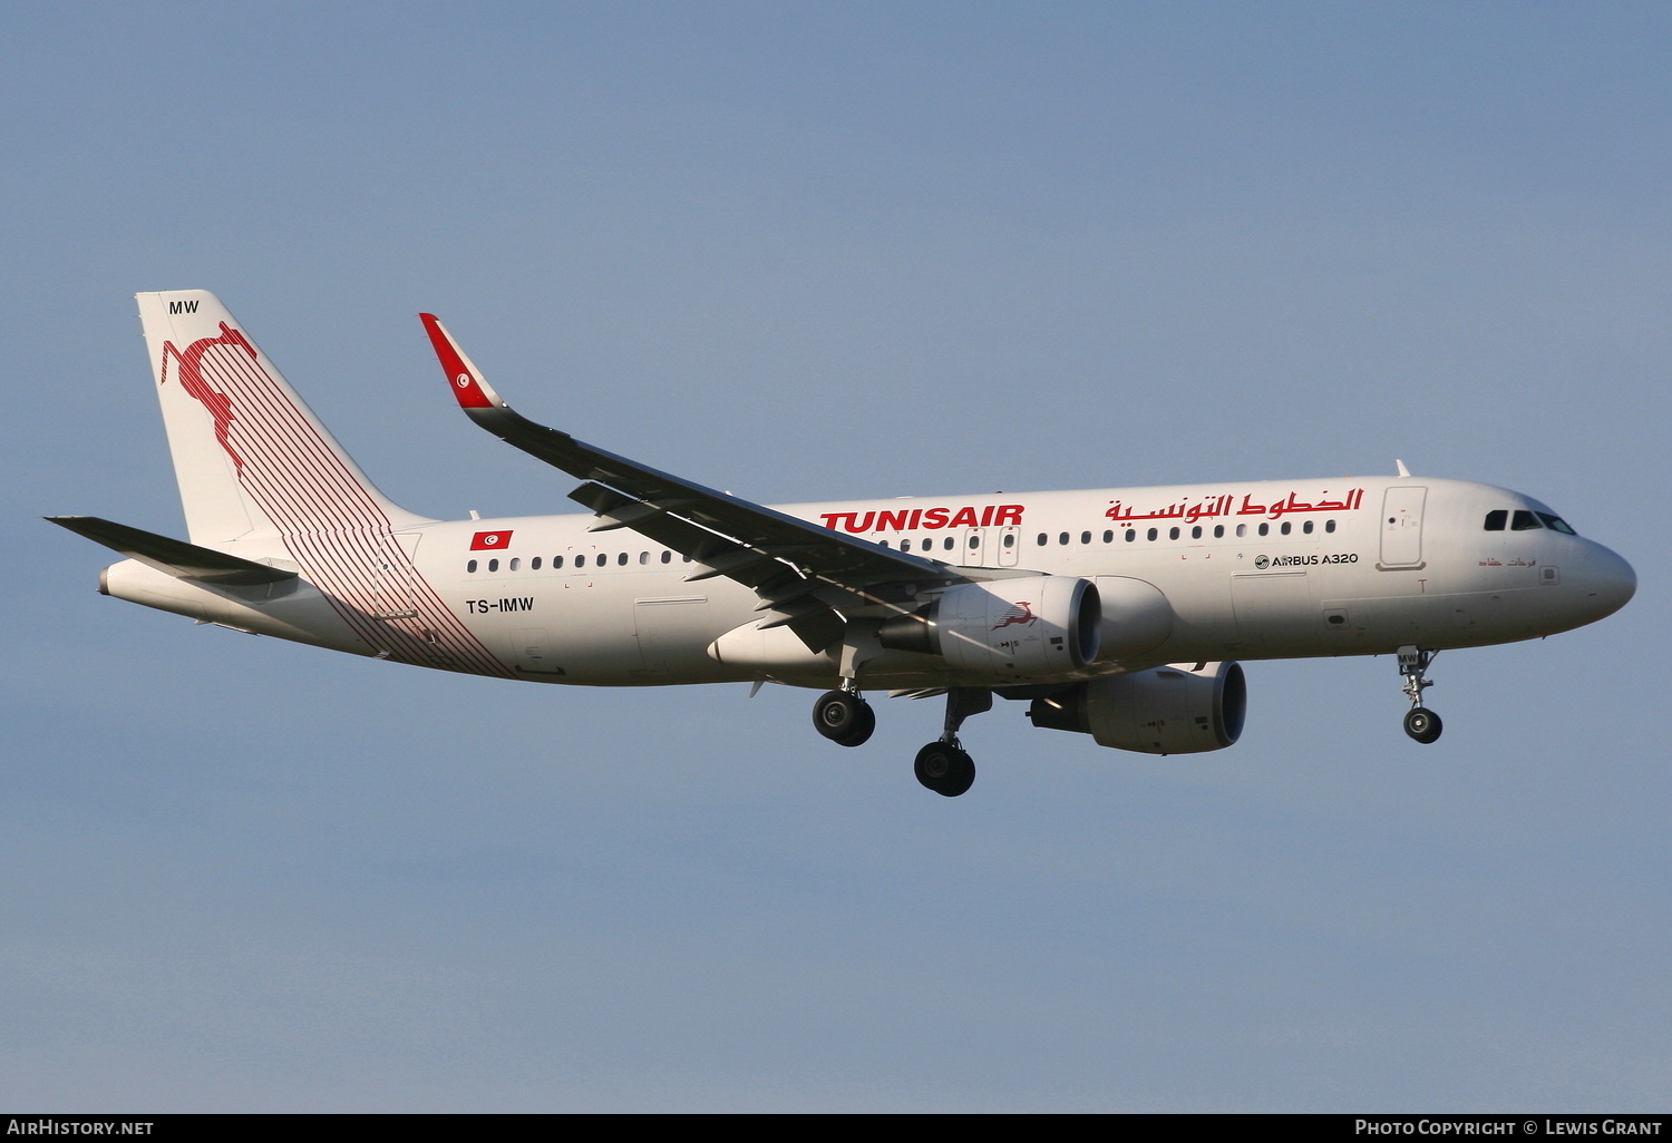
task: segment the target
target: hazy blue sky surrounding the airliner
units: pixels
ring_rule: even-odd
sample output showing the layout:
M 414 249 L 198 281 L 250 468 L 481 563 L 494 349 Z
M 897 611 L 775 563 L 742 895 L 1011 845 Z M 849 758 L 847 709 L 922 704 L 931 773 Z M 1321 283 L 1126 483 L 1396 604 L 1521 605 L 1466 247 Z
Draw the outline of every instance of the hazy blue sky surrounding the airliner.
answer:
M 0 1105 L 1664 1110 L 1664 5 L 54 5 L 0 43 Z M 105 600 L 179 535 L 130 294 L 440 516 L 520 409 L 762 501 L 1413 471 L 1639 597 L 1252 663 L 1234 749 L 565 690 Z

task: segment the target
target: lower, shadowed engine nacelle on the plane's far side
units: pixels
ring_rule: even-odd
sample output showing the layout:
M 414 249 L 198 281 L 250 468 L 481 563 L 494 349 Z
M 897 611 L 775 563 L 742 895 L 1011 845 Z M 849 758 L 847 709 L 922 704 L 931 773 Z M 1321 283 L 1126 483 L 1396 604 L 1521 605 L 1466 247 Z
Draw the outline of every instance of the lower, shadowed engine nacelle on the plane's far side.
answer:
M 1221 750 L 1242 734 L 1247 680 L 1239 663 L 1152 667 L 1035 698 L 1035 727 L 1088 734 L 1097 745 L 1144 754 Z

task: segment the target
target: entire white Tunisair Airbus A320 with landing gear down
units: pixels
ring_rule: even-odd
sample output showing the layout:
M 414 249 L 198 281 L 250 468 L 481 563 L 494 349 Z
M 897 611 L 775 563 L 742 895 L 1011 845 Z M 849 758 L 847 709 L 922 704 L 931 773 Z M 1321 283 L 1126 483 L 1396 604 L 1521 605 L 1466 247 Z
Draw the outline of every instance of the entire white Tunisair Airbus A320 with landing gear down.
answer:
M 1404 730 L 1440 650 L 1592 623 L 1637 578 L 1522 493 L 1455 480 L 1284 480 L 766 508 L 513 413 L 433 316 L 460 406 L 580 486 L 590 515 L 426 520 L 361 475 L 221 302 L 139 294 L 191 543 L 50 516 L 129 556 L 99 590 L 241 632 L 528 682 L 824 688 L 841 745 L 864 690 L 946 697 L 918 780 L 975 780 L 993 695 L 1035 727 L 1149 754 L 1242 732 L 1236 658 L 1398 655 Z

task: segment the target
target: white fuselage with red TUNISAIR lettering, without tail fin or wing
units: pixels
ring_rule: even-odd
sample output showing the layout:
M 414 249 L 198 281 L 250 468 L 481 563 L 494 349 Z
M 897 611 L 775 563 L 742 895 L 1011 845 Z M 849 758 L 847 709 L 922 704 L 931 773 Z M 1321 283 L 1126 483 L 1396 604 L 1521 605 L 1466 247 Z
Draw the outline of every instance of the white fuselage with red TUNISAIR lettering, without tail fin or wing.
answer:
M 1506 643 L 1602 618 L 1635 587 L 1630 566 L 1590 540 L 1550 526 L 1486 530 L 1491 511 L 1550 510 L 1453 480 L 1227 481 L 779 511 L 975 578 L 1097 582 L 1105 652 L 1082 675 Z M 838 678 L 834 652 L 811 653 L 786 628 L 754 630 L 761 600 L 749 587 L 687 582 L 701 565 L 627 530 L 590 531 L 595 523 L 430 521 L 286 550 L 252 540 L 227 550 L 247 546 L 239 555 L 296 570 L 301 582 L 219 588 L 127 560 L 105 572 L 104 590 L 241 630 L 537 682 Z M 1162 615 L 1144 605 L 1155 592 Z M 1134 638 L 1137 628 L 1152 637 Z M 866 687 L 960 683 L 943 660 L 913 652 L 884 652 L 858 677 Z

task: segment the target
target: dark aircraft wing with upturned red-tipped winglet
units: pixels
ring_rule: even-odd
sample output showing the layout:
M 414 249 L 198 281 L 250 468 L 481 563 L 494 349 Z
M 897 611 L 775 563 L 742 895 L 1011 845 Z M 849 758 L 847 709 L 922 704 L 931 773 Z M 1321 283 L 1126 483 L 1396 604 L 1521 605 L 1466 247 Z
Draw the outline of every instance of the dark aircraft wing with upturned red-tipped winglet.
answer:
M 938 560 L 821 528 L 537 424 L 505 404 L 435 314 L 420 318 L 470 419 L 585 481 L 570 498 L 599 515 L 592 531 L 630 528 L 701 563 L 689 580 L 724 575 L 752 587 L 759 610 L 769 612 L 762 627 L 789 627 L 823 650 L 846 627 L 838 608 L 910 610 L 913 592 L 901 587 L 966 578 Z

